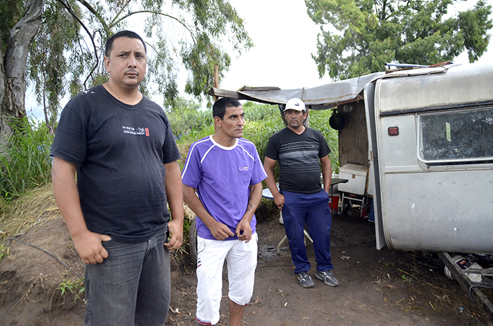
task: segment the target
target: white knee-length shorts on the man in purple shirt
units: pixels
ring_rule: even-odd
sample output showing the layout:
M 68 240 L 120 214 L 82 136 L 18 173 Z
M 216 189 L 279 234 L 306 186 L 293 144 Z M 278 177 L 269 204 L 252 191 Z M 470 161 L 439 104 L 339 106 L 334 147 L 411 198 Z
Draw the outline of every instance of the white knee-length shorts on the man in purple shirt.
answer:
M 204 325 L 216 325 L 223 298 L 223 266 L 227 260 L 228 297 L 245 306 L 250 302 L 257 268 L 257 233 L 252 240 L 219 241 L 197 238 L 197 313 Z

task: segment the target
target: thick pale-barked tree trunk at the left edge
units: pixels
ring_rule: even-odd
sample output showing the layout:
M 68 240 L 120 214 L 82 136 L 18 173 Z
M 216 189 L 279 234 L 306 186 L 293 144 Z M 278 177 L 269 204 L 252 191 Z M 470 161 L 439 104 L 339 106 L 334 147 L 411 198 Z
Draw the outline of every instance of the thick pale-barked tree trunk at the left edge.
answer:
M 27 0 L 24 17 L 10 31 L 3 65 L 0 63 L 0 146 L 6 145 L 13 133 L 8 120 L 11 117 L 26 116 L 26 63 L 29 44 L 40 29 L 45 2 L 46 0 Z

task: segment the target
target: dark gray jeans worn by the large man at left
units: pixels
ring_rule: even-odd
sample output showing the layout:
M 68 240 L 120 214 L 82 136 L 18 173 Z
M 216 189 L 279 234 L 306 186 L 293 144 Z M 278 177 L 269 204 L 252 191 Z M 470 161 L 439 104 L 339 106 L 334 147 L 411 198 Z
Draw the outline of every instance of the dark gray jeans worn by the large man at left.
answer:
M 168 227 L 143 243 L 103 242 L 108 258 L 86 266 L 88 326 L 160 326 L 170 305 Z

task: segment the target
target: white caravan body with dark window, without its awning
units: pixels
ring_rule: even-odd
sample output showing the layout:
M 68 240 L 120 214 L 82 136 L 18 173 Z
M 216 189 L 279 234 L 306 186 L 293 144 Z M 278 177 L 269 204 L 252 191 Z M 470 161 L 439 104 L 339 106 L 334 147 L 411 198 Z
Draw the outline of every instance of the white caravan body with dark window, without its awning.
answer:
M 493 65 L 387 74 L 364 98 L 380 240 L 493 253 Z

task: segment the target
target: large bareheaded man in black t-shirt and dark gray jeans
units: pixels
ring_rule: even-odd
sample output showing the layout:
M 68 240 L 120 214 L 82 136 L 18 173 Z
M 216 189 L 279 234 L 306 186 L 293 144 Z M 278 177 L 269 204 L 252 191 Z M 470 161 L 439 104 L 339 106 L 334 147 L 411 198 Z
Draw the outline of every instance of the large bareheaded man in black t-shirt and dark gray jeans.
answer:
M 108 82 L 60 115 L 50 153 L 55 199 L 86 263 L 86 325 L 163 325 L 169 250 L 183 240 L 181 156 L 163 109 L 138 91 L 142 38 L 113 35 L 104 63 Z

